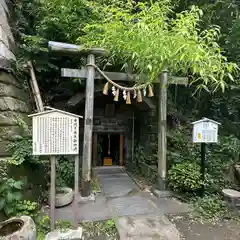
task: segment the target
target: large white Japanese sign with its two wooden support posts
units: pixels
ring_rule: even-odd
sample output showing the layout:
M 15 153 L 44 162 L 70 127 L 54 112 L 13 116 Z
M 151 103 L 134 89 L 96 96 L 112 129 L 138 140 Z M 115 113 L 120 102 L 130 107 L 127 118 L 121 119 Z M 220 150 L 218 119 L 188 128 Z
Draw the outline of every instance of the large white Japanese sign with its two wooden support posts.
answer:
M 55 198 L 56 198 L 56 156 L 75 156 L 75 196 L 74 196 L 74 227 L 78 226 L 78 176 L 79 176 L 79 118 L 82 116 L 64 112 L 58 109 L 29 115 L 33 126 L 33 155 L 50 156 L 51 187 L 50 216 L 51 230 L 55 228 Z

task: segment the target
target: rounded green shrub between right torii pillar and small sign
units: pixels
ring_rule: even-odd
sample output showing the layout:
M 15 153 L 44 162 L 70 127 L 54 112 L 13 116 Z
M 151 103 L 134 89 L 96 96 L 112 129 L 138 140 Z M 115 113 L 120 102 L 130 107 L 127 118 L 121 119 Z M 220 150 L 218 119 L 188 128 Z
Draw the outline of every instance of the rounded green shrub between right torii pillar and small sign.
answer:
M 177 192 L 194 192 L 203 184 L 200 166 L 184 162 L 174 165 L 168 171 L 169 186 Z

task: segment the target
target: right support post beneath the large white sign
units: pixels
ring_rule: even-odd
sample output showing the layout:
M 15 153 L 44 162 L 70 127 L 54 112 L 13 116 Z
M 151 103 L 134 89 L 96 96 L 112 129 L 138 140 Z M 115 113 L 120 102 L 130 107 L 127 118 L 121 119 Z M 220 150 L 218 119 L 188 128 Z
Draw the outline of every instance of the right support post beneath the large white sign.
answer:
M 78 193 L 79 193 L 79 155 L 74 157 L 75 160 L 75 177 L 74 177 L 74 207 L 73 207 L 73 227 L 78 227 Z

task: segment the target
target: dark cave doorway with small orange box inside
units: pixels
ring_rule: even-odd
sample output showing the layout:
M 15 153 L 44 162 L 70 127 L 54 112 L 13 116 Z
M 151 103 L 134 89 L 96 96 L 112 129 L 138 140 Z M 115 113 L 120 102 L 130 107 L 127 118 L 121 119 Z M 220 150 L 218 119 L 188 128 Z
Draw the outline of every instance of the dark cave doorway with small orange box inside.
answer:
M 94 166 L 123 166 L 123 140 L 123 134 L 95 133 L 93 141 Z

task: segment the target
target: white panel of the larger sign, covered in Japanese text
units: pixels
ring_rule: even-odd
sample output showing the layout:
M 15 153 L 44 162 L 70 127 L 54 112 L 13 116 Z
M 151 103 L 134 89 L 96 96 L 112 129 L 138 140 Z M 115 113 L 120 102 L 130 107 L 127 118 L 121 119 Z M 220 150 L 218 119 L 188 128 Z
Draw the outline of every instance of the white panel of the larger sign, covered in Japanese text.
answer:
M 33 155 L 77 155 L 79 119 L 59 112 L 33 117 Z

